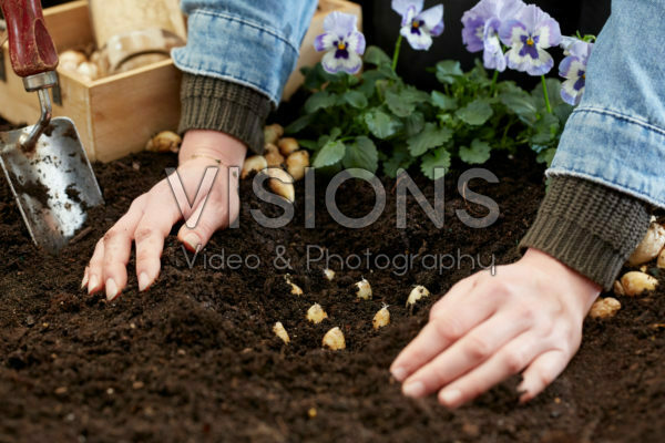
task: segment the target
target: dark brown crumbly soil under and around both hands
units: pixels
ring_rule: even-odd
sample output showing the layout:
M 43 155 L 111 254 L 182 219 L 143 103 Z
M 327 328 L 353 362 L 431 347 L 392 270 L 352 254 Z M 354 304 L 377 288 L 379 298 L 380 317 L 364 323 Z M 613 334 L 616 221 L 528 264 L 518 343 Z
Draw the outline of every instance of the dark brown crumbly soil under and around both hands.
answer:
M 467 207 L 473 214 L 483 210 L 460 197 L 454 174 L 447 179 L 440 230 L 412 198 L 408 228 L 397 230 L 390 181 L 385 215 L 370 228 L 332 224 L 319 186 L 317 228 L 305 229 L 301 185 L 294 222 L 283 229 L 262 228 L 249 210 L 280 209 L 252 196 L 246 182 L 241 228 L 215 235 L 205 254 L 254 254 L 262 261 L 258 269 L 215 270 L 209 260 L 204 267 L 203 253 L 190 269 L 170 237 L 162 276 L 149 292 L 137 293 L 131 277 L 115 302 L 88 297 L 79 286 L 95 241 L 174 164 L 173 155 L 142 154 L 96 165 L 106 206 L 91 210 L 85 230 L 57 258 L 32 246 L 2 181 L 0 442 L 664 441 L 665 332 L 655 326 L 665 322 L 664 290 L 622 298 L 623 309 L 612 320 L 587 320 L 580 353 L 530 404 L 516 404 L 515 378 L 449 412 L 434 399 L 402 398 L 388 368 L 426 323 L 431 303 L 472 271 L 470 261 L 442 275 L 416 266 L 401 277 L 395 269 L 340 270 L 335 265 L 332 282 L 321 278 L 321 264 L 306 268 L 307 245 L 342 256 L 368 248 L 390 257 L 457 255 L 460 248 L 481 253 L 483 264 L 492 254 L 498 264 L 510 262 L 544 194 L 542 169 L 531 161 L 494 161 L 489 168 L 500 184 L 471 184 L 501 208 L 497 224 L 479 230 L 454 215 Z M 431 202 L 433 186 L 419 184 Z M 348 216 L 367 213 L 374 205 L 367 189 L 344 185 L 340 209 Z M 279 247 L 305 289 L 303 298 L 288 293 L 282 278 L 286 271 L 274 266 Z M 361 276 L 375 289 L 371 301 L 358 302 L 352 293 Z M 436 297 L 411 316 L 405 301 L 416 284 Z M 304 318 L 314 302 L 330 317 L 319 326 Z M 371 319 L 382 303 L 390 305 L 392 323 L 375 331 Z M 273 336 L 275 321 L 288 330 L 289 346 Z M 334 326 L 346 334 L 344 351 L 321 349 L 324 333 Z

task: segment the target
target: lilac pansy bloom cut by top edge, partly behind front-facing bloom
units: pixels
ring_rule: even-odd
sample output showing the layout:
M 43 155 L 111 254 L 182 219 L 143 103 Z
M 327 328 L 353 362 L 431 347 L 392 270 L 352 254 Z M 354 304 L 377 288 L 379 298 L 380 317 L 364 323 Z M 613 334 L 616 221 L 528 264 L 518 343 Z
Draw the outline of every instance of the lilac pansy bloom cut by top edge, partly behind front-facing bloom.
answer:
M 499 40 L 501 24 L 514 19 L 526 4 L 522 0 L 481 0 L 462 17 L 462 40 L 469 52 L 483 52 L 487 69 L 505 71 L 505 56 Z

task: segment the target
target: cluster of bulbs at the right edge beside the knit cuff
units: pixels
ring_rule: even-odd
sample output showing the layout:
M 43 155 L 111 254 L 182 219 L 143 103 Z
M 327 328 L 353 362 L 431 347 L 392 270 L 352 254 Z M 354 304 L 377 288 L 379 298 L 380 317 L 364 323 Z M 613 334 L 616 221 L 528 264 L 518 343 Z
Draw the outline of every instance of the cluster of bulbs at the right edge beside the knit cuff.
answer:
M 665 227 L 652 218 L 646 235 L 628 260 L 627 267 L 638 268 L 623 275 L 614 282 L 614 295 L 618 297 L 638 297 L 654 291 L 658 280 L 648 275 L 648 262 L 656 260 L 658 269 L 665 269 Z M 598 298 L 591 308 L 593 318 L 611 318 L 621 309 L 621 302 L 614 297 Z

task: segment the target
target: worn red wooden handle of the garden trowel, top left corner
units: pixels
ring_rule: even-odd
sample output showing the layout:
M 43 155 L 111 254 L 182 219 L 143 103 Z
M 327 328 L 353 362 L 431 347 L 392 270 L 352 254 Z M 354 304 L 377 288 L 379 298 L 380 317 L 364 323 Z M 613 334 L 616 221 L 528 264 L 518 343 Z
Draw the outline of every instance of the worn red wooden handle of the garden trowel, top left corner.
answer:
M 58 52 L 42 14 L 40 0 L 0 0 L 9 32 L 9 56 L 19 76 L 54 71 Z

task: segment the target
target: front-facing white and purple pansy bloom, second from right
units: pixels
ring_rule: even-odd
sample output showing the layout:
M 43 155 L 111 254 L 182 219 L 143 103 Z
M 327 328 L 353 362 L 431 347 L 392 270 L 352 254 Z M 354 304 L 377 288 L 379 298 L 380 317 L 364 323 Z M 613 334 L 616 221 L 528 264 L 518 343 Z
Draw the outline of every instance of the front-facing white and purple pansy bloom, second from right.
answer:
M 554 66 L 554 59 L 545 49 L 561 43 L 561 28 L 535 4 L 522 9 L 515 20 L 501 24 L 499 37 L 510 47 L 505 53 L 508 68 L 530 75 L 544 75 Z

